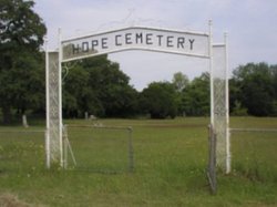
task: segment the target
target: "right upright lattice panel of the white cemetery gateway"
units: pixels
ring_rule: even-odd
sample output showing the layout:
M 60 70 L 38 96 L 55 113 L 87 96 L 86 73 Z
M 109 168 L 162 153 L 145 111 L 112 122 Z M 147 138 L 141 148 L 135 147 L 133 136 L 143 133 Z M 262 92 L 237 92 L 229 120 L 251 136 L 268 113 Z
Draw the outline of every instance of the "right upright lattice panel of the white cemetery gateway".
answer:
M 216 161 L 217 166 L 228 173 L 228 75 L 226 64 L 226 44 L 218 44 L 213 46 L 213 120 L 214 131 L 217 137 Z

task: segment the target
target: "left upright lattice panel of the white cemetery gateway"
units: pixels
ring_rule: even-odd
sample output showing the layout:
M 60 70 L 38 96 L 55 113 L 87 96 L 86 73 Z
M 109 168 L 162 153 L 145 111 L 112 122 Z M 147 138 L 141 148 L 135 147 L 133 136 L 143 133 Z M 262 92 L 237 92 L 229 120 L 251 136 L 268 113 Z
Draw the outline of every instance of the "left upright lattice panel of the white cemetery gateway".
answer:
M 48 115 L 48 165 L 50 163 L 59 163 L 61 161 L 61 113 L 60 113 L 60 95 L 61 87 L 60 74 L 59 74 L 59 53 L 49 52 L 48 60 L 48 100 L 47 100 L 47 115 Z

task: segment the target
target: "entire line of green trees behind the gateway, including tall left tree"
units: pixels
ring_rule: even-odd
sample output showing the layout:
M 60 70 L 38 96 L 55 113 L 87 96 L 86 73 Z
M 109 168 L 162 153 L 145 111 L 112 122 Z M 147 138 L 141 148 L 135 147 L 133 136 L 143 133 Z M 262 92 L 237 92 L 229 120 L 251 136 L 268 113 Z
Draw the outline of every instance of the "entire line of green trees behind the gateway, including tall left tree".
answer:
M 47 28 L 33 1 L 0 1 L 0 116 L 45 114 L 44 52 Z M 107 55 L 75 61 L 63 80 L 64 117 L 174 118 L 209 115 L 209 74 L 193 79 L 178 72 L 170 82 L 153 82 L 142 92 Z M 277 65 L 248 63 L 229 79 L 233 115 L 277 115 Z

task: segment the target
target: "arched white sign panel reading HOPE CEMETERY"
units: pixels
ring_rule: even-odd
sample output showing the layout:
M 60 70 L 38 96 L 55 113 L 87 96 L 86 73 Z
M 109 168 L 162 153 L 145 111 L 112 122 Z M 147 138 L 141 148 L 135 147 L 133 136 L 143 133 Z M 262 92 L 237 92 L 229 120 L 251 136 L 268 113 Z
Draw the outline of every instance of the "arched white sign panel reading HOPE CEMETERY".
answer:
M 61 41 L 62 62 L 124 50 L 209 58 L 209 35 L 153 28 L 125 28 Z

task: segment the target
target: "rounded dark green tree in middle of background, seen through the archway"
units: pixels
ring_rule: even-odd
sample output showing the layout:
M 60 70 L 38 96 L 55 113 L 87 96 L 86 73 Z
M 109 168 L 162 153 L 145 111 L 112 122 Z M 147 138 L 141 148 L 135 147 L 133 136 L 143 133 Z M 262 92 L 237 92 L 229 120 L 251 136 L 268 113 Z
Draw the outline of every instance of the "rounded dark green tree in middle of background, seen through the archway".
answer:
M 168 82 L 153 82 L 141 94 L 141 106 L 152 118 L 174 118 L 177 100 L 174 85 Z

